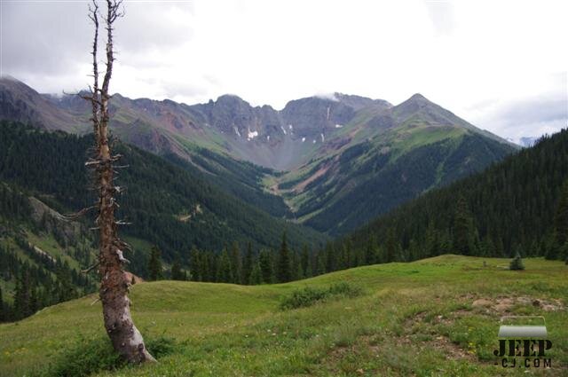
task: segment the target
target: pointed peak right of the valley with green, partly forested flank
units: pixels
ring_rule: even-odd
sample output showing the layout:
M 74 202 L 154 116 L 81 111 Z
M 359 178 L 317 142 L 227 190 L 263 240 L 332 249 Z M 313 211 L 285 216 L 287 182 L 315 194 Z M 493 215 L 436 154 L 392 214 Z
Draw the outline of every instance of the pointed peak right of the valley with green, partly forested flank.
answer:
M 327 153 L 273 187 L 299 221 L 335 234 L 516 150 L 420 94 L 380 111 L 364 108 L 341 131 Z

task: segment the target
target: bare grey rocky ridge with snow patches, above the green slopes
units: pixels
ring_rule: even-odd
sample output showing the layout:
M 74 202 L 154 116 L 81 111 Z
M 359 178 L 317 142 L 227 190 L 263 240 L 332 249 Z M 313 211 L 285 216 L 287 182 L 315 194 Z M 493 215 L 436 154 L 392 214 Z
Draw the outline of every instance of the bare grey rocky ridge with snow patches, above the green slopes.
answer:
M 250 106 L 235 95 L 189 106 L 169 99 L 130 99 L 117 93 L 111 101 L 111 112 L 116 135 L 154 153 L 176 153 L 191 160 L 192 152 L 188 149 L 199 145 L 238 160 L 288 170 L 337 145 L 350 144 L 351 140 L 341 135 L 341 129 L 348 124 L 365 126 L 373 135 L 403 122 L 406 114 L 428 101 L 418 94 L 413 98 L 389 114 L 393 106 L 383 99 L 342 93 L 329 98 L 291 100 L 280 111 L 272 106 Z M 91 130 L 89 112 L 89 104 L 78 96 L 39 94 L 16 79 L 0 80 L 0 119 L 83 133 Z M 437 121 L 435 115 L 447 116 L 442 113 L 422 115 Z M 459 126 L 474 128 L 464 121 Z M 484 130 L 476 130 L 507 143 Z

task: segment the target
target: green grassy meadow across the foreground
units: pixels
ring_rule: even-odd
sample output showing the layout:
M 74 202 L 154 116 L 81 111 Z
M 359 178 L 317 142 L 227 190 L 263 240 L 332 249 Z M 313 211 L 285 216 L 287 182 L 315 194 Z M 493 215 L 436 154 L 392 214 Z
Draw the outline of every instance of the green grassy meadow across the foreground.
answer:
M 484 266 L 484 262 L 486 263 Z M 568 267 L 525 259 L 443 255 L 338 271 L 288 284 L 241 287 L 161 281 L 132 288 L 132 315 L 148 338 L 167 336 L 175 350 L 157 365 L 99 375 L 532 375 L 493 365 L 501 312 L 473 302 L 513 298 L 513 313 L 543 315 L 553 349 L 547 375 L 568 374 Z M 293 292 L 338 282 L 362 295 L 280 310 Z M 528 303 L 517 298 L 528 298 Z M 533 300 L 556 302 L 545 311 Z M 69 352 L 79 334 L 104 337 L 95 295 L 46 308 L 0 326 L 0 375 L 23 375 Z M 540 371 L 542 372 L 542 371 Z M 538 373 L 537 373 L 538 374 Z

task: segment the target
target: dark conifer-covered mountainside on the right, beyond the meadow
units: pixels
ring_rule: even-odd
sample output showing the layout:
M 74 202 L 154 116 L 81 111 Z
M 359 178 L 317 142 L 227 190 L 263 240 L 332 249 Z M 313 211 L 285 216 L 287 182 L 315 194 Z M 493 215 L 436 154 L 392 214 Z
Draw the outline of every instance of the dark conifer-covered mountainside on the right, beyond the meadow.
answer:
M 481 173 L 427 192 L 340 244 L 381 249 L 390 254 L 383 257 L 387 262 L 448 252 L 499 257 L 518 252 L 564 260 L 568 244 L 564 249 L 558 245 L 558 235 L 568 234 L 568 224 L 558 210 L 561 200 L 568 203 L 568 130 L 543 137 Z

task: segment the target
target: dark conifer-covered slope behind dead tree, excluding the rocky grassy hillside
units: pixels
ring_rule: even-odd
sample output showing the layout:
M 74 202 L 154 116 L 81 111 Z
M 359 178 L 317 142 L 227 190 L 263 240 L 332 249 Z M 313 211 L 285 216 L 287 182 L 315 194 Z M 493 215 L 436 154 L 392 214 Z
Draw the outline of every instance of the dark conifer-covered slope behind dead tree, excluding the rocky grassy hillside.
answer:
M 91 137 L 43 132 L 21 124 L 0 127 L 0 179 L 43 194 L 60 212 L 89 207 L 89 178 L 84 168 Z M 122 163 L 119 185 L 127 193 L 119 198 L 119 217 L 134 225 L 123 234 L 157 244 L 166 260 L 185 260 L 194 245 L 218 250 L 233 241 L 255 248 L 276 247 L 287 229 L 295 247 L 317 245 L 324 238 L 307 228 L 277 220 L 210 185 L 187 169 L 154 154 L 117 143 Z M 25 158 L 22 158 L 25 156 Z

